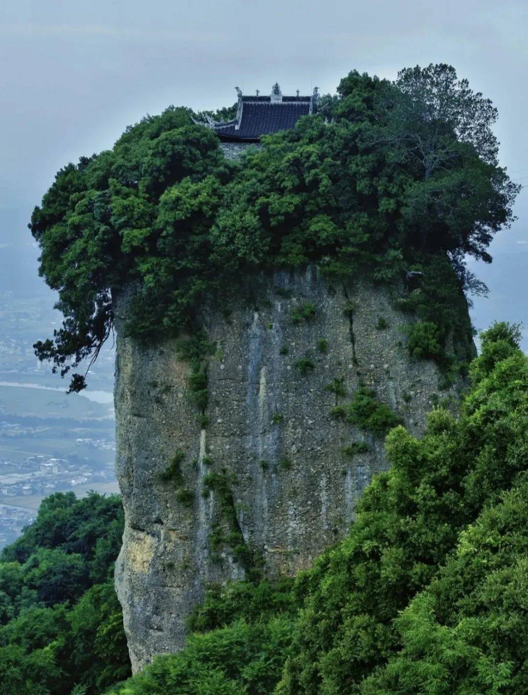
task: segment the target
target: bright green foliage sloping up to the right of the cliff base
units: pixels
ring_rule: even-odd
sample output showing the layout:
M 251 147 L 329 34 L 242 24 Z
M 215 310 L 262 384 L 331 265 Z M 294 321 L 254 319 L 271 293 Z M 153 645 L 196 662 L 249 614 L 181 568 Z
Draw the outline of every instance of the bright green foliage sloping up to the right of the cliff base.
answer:
M 461 416 L 396 427 L 348 536 L 313 569 L 211 589 L 195 632 L 113 694 L 522 695 L 528 357 L 496 324 Z

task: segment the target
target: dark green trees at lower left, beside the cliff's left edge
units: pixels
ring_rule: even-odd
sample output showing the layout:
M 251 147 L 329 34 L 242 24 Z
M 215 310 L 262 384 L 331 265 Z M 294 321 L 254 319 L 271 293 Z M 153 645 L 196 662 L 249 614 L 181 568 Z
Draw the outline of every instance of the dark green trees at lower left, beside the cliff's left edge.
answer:
M 0 693 L 95 695 L 130 673 L 113 564 L 117 496 L 55 493 L 0 557 Z

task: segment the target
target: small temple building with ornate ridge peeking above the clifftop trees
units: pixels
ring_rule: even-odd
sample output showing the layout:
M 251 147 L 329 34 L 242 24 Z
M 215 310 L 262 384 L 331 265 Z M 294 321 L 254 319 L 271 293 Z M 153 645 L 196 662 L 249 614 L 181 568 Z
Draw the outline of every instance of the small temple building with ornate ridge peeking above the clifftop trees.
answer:
M 238 104 L 236 117 L 230 121 L 217 122 L 207 117 L 208 125 L 215 130 L 222 142 L 226 157 L 234 159 L 251 145 L 258 145 L 261 136 L 293 128 L 301 116 L 315 113 L 317 109 L 317 87 L 308 97 L 286 96 L 276 82 L 269 97 L 242 95 L 236 87 Z

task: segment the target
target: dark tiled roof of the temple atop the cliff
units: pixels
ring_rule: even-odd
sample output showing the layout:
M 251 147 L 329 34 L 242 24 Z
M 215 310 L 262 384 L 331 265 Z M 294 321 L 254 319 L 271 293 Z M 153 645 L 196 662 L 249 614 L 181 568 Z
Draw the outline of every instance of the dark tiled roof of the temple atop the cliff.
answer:
M 293 128 L 299 118 L 310 111 L 309 97 L 283 97 L 284 101 L 274 104 L 270 102 L 270 97 L 253 97 L 251 101 L 242 99 L 240 128 L 236 129 L 236 124 L 215 126 L 221 140 L 256 141 L 261 135 Z

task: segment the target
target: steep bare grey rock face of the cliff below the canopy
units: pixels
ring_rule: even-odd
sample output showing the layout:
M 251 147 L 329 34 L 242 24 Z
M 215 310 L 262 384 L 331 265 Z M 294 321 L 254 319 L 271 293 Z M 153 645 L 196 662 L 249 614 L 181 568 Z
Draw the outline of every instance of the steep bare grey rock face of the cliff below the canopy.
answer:
M 420 432 L 439 375 L 432 361 L 409 359 L 399 327 L 413 318 L 395 311 L 387 288 L 330 284 L 315 267 L 279 272 L 263 279 L 251 306 L 240 300 L 229 316 L 200 317 L 215 342 L 202 426 L 188 398 L 189 363 L 174 342 L 147 348 L 124 338 L 126 306 L 118 298 L 126 528 L 116 585 L 139 669 L 183 646 L 207 582 L 240 579 L 255 566 L 270 577 L 295 573 L 343 537 L 358 496 L 387 463 L 381 438 L 331 417 L 336 402 L 368 386 Z M 305 319 L 307 306 L 315 314 Z M 334 379 L 347 395 L 325 389 Z M 359 442 L 365 451 L 343 452 Z M 176 481 L 163 475 L 174 455 Z

